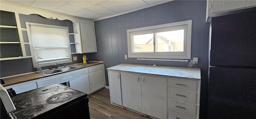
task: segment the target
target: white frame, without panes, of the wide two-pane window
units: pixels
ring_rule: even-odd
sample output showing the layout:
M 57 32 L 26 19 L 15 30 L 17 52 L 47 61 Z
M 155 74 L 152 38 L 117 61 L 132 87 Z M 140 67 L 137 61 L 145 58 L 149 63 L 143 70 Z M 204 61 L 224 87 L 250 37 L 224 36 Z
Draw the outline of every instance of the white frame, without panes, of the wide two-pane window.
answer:
M 158 33 L 184 29 L 184 51 L 183 52 L 156 52 L 156 36 L 154 35 L 154 52 L 133 52 L 134 41 L 132 35 Z M 131 58 L 153 58 L 153 59 L 190 59 L 191 58 L 191 34 L 192 20 L 166 23 L 149 27 L 141 27 L 127 30 L 128 57 Z

